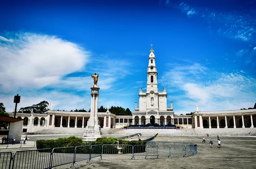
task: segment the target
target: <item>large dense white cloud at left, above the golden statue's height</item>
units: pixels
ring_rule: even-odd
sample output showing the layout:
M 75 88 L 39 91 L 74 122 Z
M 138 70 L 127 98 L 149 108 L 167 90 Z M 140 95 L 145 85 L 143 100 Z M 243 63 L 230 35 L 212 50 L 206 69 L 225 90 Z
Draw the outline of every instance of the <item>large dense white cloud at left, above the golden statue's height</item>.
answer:
M 75 43 L 55 36 L 19 33 L 12 40 L 0 43 L 1 92 L 58 83 L 64 75 L 81 70 L 89 55 Z

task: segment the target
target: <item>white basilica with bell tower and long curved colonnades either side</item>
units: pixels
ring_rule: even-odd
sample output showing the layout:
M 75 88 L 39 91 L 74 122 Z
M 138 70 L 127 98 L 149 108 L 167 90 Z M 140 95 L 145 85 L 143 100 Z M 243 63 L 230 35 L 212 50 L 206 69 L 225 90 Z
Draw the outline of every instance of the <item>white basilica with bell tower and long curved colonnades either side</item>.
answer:
M 158 90 L 157 66 L 154 50 L 151 48 L 148 57 L 146 90 L 139 90 L 139 104 L 131 116 L 116 116 L 107 112 L 98 113 L 101 128 L 122 128 L 124 126 L 161 126 L 162 128 L 253 128 L 256 120 L 256 109 L 196 111 L 193 115 L 174 115 L 173 103 L 167 105 L 166 88 Z M 13 113 L 9 113 L 10 117 Z M 90 112 L 66 112 L 51 109 L 44 114 L 17 113 L 23 119 L 22 132 L 36 132 L 55 127 L 85 128 Z

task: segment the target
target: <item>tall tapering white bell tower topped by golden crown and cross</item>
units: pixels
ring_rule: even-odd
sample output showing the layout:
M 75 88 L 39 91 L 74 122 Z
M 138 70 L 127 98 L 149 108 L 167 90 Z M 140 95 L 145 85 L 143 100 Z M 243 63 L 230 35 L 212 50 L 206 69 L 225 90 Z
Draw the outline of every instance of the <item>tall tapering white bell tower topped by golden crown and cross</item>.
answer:
M 155 63 L 155 55 L 154 55 L 154 50 L 152 49 L 152 44 L 151 44 L 151 50 L 150 50 L 150 54 L 148 57 L 148 71 L 147 71 L 147 75 L 148 75 L 148 81 L 147 81 L 147 92 L 158 92 L 158 85 L 157 85 L 157 66 Z

